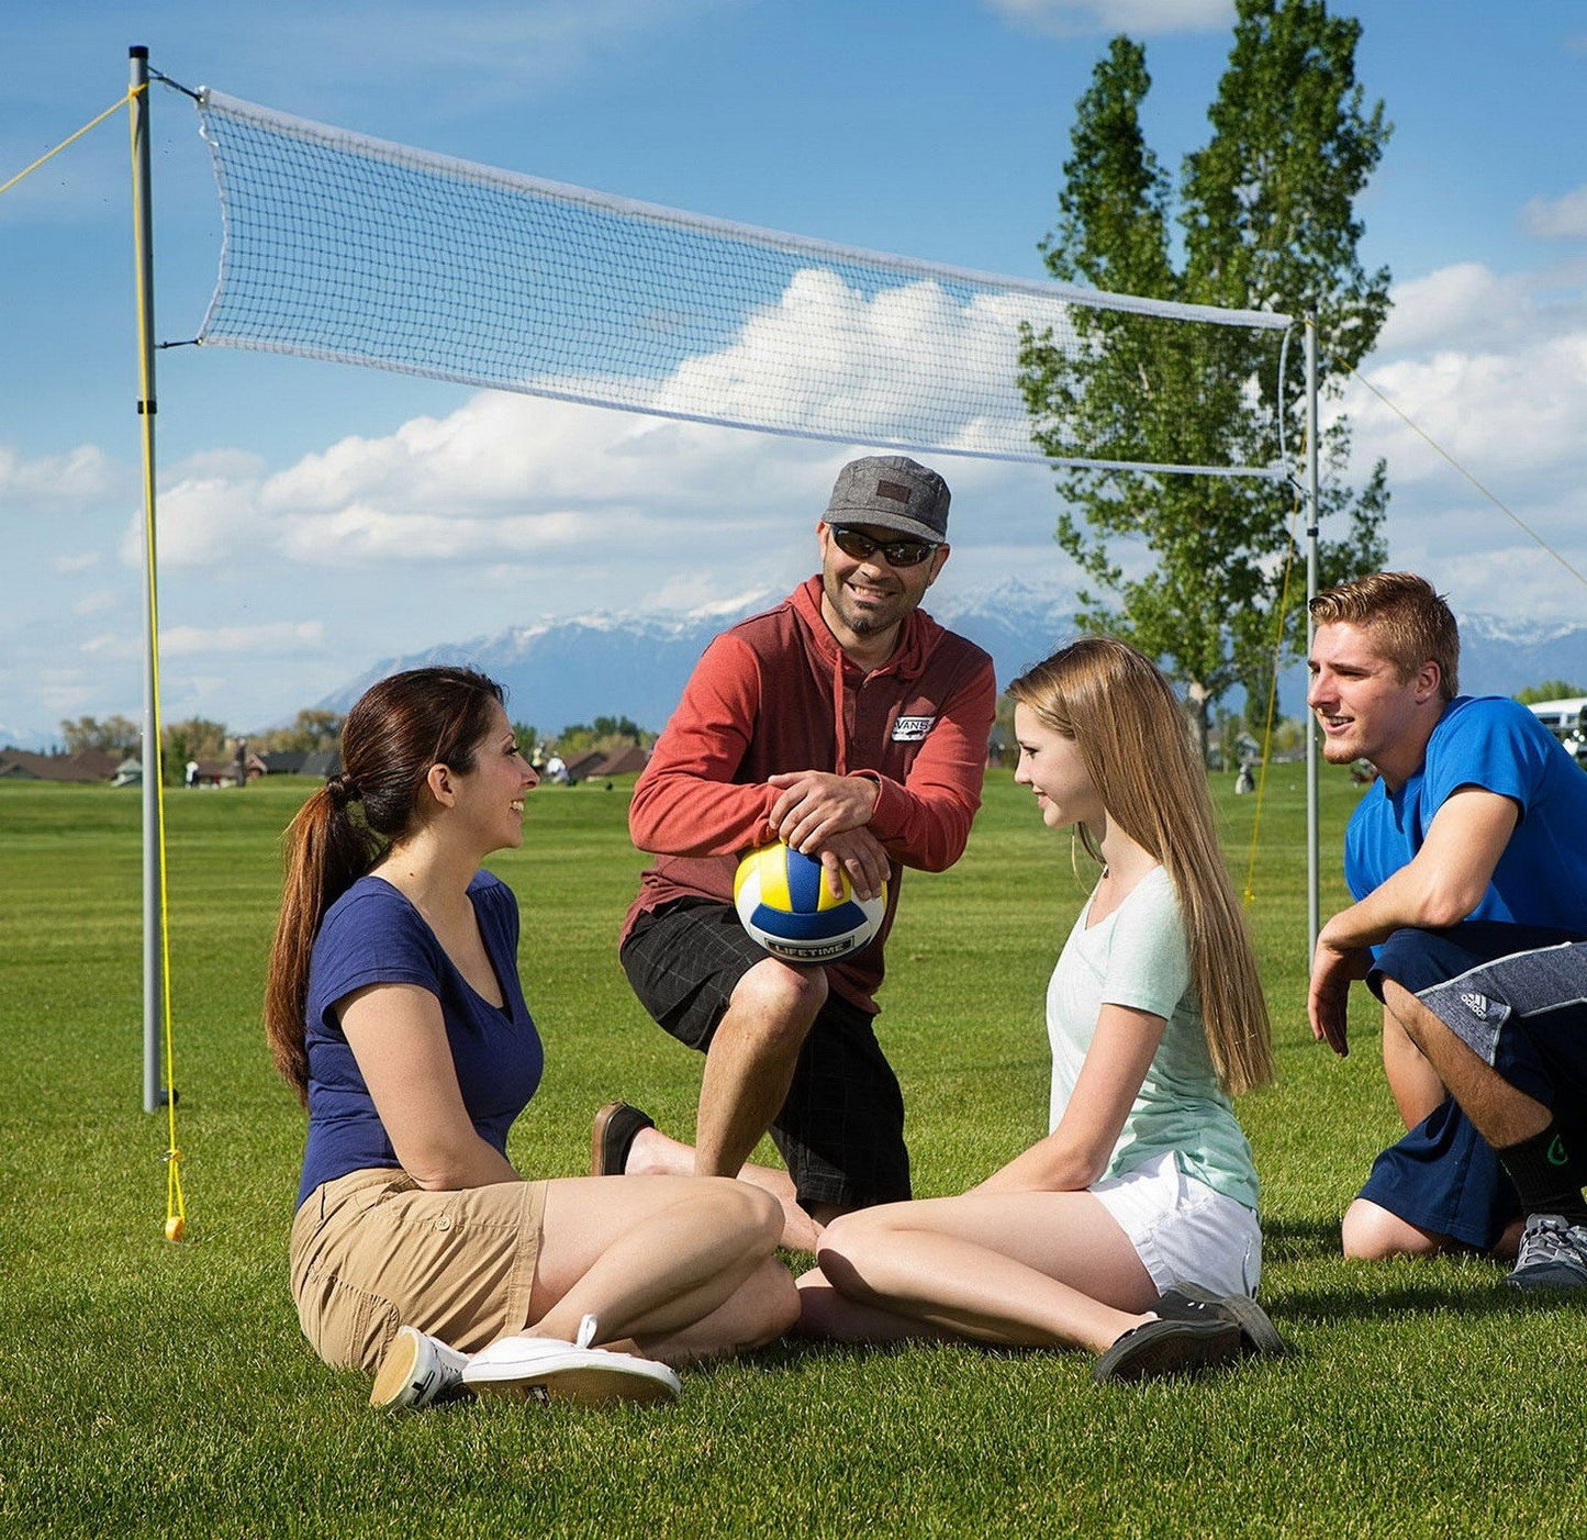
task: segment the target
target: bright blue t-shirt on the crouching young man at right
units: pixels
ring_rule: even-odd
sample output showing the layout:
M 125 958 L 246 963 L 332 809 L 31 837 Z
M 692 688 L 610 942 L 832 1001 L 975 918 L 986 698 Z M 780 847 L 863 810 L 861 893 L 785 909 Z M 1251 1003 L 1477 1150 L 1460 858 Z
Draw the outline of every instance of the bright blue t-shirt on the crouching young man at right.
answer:
M 1503 695 L 1457 695 L 1397 792 L 1378 781 L 1344 834 L 1344 881 L 1366 897 L 1408 865 L 1462 786 L 1509 797 L 1520 818 L 1468 919 L 1587 927 L 1587 775 L 1538 718 Z

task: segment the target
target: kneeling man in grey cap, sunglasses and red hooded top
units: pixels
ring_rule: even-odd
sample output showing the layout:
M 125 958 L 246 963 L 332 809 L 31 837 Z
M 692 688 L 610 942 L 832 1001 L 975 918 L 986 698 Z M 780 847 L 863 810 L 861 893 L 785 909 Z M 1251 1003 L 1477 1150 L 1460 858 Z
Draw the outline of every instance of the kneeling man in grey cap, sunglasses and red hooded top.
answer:
M 660 859 L 622 965 L 646 1010 L 705 1053 L 695 1145 L 601 1108 L 598 1172 L 698 1172 L 778 1194 L 784 1238 L 909 1195 L 903 1094 L 876 1040 L 882 956 L 905 867 L 941 872 L 981 802 L 992 660 L 919 608 L 947 560 L 949 491 L 903 456 L 844 465 L 816 526 L 820 572 L 717 637 L 633 789 L 628 827 Z M 733 870 L 781 838 L 862 897 L 874 941 L 825 967 L 768 956 L 733 910 Z M 787 1175 L 746 1167 L 770 1129 Z

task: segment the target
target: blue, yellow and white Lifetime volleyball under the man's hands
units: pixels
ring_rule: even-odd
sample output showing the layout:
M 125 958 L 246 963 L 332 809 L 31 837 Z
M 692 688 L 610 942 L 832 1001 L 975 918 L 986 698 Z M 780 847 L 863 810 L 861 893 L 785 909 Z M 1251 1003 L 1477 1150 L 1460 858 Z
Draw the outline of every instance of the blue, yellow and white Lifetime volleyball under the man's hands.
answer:
M 744 929 L 784 962 L 836 962 L 868 945 L 887 913 L 887 887 L 855 899 L 847 873 L 843 897 L 827 870 L 781 841 L 752 849 L 733 876 L 733 907 Z

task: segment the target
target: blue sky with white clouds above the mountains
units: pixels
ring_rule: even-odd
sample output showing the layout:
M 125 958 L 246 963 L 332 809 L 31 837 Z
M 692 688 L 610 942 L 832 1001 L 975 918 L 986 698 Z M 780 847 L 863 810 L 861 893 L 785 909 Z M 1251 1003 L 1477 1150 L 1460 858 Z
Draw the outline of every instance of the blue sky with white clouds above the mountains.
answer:
M 1366 373 L 1577 567 L 1587 481 L 1587 10 L 1360 0 L 1395 124 L 1362 203 L 1395 316 Z M 192 86 L 746 224 L 1041 276 L 1074 100 L 1147 43 L 1149 133 L 1205 137 L 1222 0 L 29 5 L 0 181 L 125 89 Z M 190 103 L 154 98 L 157 332 L 190 337 L 219 208 Z M 122 116 L 0 195 L 0 741 L 140 705 L 138 435 Z M 159 362 L 168 718 L 254 730 L 379 657 L 589 610 L 732 600 L 811 565 L 843 446 L 230 349 Z M 1397 564 L 1470 610 L 1582 587 L 1371 397 Z M 944 584 L 1057 584 L 1041 468 L 947 462 Z M 503 491 L 506 487 L 506 491 Z M 1033 638 L 1033 651 L 1051 638 Z M 514 706 L 533 721 L 532 702 Z M 600 703 L 592 703 L 592 711 Z M 562 724 L 540 724 L 555 730 Z M 660 724 L 654 724 L 660 726 Z

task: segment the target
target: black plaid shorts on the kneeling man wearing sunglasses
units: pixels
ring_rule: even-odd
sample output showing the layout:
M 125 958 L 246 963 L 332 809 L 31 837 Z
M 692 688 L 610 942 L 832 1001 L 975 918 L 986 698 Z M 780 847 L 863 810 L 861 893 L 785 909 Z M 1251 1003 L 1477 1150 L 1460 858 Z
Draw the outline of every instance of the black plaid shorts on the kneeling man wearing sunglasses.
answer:
M 640 914 L 622 967 L 640 1003 L 673 1037 L 705 1053 L 738 981 L 767 953 L 728 903 L 674 899 Z M 827 994 L 771 1124 L 805 1208 L 865 1208 L 909 1197 L 903 1092 L 870 1011 Z

